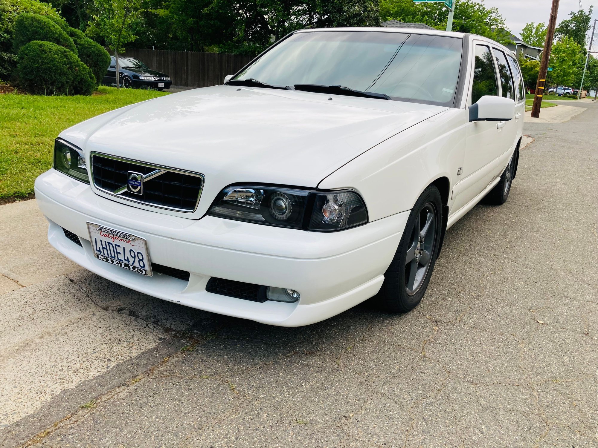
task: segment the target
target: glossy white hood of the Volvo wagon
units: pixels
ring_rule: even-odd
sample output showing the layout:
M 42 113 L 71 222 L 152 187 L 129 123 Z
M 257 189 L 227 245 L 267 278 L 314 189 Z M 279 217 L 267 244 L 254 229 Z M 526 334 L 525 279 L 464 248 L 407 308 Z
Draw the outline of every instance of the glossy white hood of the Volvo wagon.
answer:
M 205 211 L 205 196 L 213 198 L 233 183 L 315 188 L 359 154 L 446 109 L 221 85 L 127 106 L 69 128 L 61 137 L 86 154 L 97 151 L 204 174 L 200 208 Z

